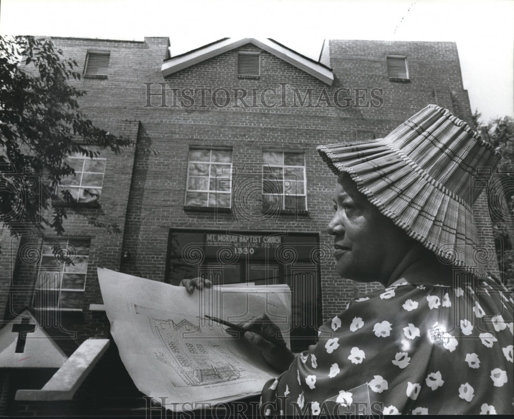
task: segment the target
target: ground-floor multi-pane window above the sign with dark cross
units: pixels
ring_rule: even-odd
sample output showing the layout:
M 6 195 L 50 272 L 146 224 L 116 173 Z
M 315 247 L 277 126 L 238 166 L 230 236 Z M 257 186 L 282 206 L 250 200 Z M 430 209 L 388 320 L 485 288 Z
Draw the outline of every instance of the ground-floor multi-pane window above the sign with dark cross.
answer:
M 86 287 L 88 238 L 43 240 L 33 307 L 80 309 Z

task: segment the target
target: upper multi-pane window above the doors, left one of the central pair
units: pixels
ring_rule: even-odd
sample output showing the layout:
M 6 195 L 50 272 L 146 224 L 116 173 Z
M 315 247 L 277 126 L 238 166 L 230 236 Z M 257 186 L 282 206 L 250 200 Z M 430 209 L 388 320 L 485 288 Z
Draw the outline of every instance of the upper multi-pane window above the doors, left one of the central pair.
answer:
M 189 150 L 186 207 L 230 208 L 232 150 Z

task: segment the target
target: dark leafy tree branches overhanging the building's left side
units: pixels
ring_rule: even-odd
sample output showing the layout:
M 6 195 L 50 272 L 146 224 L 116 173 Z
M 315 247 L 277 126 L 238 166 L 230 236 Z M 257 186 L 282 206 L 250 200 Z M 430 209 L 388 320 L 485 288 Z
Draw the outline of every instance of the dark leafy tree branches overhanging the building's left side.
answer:
M 75 173 L 65 161 L 68 155 L 95 156 L 77 138 L 115 153 L 132 145 L 129 139 L 95 126 L 80 111 L 78 100 L 86 92 L 68 84 L 70 79 L 80 80 L 77 67 L 50 40 L 0 37 L 0 225 L 13 235 L 27 226 L 40 232 L 49 226 L 63 234 L 67 209 L 50 208 L 57 199 L 64 198 L 72 211 L 82 213 L 74 198 L 59 197 L 56 187 Z M 95 216 L 82 215 L 109 232 L 119 230 Z

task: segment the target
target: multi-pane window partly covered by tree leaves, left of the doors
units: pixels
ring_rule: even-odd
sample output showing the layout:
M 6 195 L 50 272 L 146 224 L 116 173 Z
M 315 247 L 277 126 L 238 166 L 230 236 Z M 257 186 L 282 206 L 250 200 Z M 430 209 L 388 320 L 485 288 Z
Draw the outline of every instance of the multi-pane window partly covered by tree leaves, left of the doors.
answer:
M 97 148 L 88 149 L 98 151 Z M 61 186 L 58 188 L 59 199 L 62 199 L 61 191 L 67 189 L 79 203 L 98 203 L 102 194 L 106 159 L 90 158 L 82 153 L 76 153 L 69 156 L 66 163 L 75 169 L 75 176 L 67 176 L 61 180 Z

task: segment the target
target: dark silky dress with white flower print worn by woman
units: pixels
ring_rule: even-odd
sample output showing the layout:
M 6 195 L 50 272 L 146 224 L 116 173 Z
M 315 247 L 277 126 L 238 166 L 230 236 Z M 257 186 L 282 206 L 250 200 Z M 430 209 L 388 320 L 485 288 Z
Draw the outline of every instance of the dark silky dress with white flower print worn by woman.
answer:
M 513 301 L 487 278 L 353 300 L 262 390 L 270 415 L 513 413 Z

